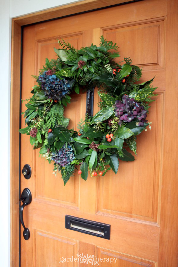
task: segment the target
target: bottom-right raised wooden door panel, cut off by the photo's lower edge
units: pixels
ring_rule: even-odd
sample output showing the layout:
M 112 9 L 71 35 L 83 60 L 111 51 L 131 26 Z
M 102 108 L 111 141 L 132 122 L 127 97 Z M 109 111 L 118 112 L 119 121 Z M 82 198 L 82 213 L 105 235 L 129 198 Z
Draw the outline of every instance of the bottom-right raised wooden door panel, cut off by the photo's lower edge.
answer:
M 117 267 L 155 267 L 156 263 L 144 260 L 141 258 L 132 257 L 130 255 L 121 254 L 116 251 L 103 249 L 100 247 L 96 248 L 97 258 L 94 259 L 99 260 L 99 266 L 107 267 L 107 266 L 117 266 Z M 100 260 L 101 259 L 101 260 Z

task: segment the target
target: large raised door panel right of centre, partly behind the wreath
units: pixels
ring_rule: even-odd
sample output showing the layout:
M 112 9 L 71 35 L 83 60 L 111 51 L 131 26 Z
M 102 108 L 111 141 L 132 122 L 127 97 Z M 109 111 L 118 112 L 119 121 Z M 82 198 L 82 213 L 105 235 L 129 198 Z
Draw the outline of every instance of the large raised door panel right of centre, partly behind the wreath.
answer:
M 98 214 L 111 214 L 157 222 L 160 190 L 163 93 L 154 97 L 148 121 L 151 131 L 137 136 L 135 161 L 119 160 L 117 176 L 109 172 L 99 180 Z M 156 115 L 155 115 L 156 114 Z M 149 144 L 149 145 L 148 145 Z M 132 153 L 134 155 L 134 153 Z M 116 182 L 117 180 L 117 182 Z

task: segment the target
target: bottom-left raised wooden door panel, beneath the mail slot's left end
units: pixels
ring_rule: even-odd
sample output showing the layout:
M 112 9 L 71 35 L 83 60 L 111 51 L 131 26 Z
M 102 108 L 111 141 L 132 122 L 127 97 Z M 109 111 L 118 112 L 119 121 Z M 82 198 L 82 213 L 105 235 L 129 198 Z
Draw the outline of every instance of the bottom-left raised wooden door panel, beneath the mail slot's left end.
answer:
M 34 229 L 33 267 L 61 266 L 61 259 L 71 258 L 78 252 L 78 241 Z M 77 266 L 77 262 L 64 262 L 66 267 Z

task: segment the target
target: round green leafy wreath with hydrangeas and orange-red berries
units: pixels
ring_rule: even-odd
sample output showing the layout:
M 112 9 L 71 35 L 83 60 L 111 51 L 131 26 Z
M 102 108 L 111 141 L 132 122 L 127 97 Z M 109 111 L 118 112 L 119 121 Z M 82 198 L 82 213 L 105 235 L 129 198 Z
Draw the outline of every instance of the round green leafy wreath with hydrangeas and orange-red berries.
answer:
M 87 180 L 91 176 L 104 176 L 112 169 L 118 171 L 119 160 L 133 161 L 136 154 L 136 136 L 150 122 L 146 120 L 151 96 L 156 88 L 150 81 L 138 84 L 142 69 L 124 58 L 124 64 L 115 62 L 118 46 L 100 38 L 100 46 L 91 45 L 76 50 L 63 39 L 61 48 L 54 48 L 58 58 L 48 60 L 36 77 L 30 99 L 26 99 L 24 114 L 26 127 L 21 134 L 30 135 L 34 149 L 54 163 L 54 172 L 61 171 L 64 185 L 78 174 Z M 78 124 L 79 132 L 68 129 L 64 106 L 70 104 L 70 93 L 80 89 L 98 88 L 101 110 L 86 114 Z M 150 127 L 151 128 L 151 127 Z

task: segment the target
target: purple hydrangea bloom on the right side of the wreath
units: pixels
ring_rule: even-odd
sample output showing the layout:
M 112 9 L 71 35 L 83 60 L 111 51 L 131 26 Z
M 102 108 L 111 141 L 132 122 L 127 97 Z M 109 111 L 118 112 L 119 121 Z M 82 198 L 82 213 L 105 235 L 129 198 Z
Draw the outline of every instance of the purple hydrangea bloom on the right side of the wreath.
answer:
M 113 107 L 115 108 L 115 116 L 119 118 L 118 124 L 120 126 L 123 122 L 129 123 L 135 118 L 139 120 L 136 122 L 136 126 L 143 126 L 144 122 L 147 122 L 147 110 L 136 102 L 134 98 L 123 95 L 122 100 L 116 100 Z

